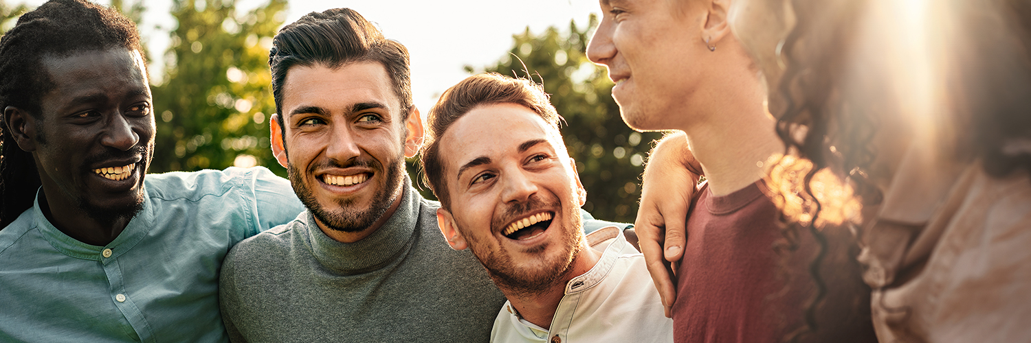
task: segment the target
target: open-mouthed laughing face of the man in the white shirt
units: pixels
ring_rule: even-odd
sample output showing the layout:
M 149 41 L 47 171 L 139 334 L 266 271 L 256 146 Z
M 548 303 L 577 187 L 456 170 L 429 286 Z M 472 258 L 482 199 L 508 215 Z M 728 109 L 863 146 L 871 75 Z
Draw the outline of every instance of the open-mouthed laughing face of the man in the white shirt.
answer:
M 451 196 L 438 211 L 445 236 L 468 242 L 499 286 L 533 294 L 563 280 L 586 248 L 587 194 L 558 130 L 521 105 L 480 105 L 439 144 Z

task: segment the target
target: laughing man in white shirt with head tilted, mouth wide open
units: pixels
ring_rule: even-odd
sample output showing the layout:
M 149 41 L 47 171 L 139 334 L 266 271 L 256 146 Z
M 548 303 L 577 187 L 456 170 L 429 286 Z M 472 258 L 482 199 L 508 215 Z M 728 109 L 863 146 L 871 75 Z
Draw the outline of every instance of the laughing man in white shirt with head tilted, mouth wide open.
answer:
M 471 76 L 428 121 L 422 161 L 440 231 L 508 299 L 492 341 L 672 341 L 644 258 L 614 227 L 583 234 L 587 193 L 539 85 Z

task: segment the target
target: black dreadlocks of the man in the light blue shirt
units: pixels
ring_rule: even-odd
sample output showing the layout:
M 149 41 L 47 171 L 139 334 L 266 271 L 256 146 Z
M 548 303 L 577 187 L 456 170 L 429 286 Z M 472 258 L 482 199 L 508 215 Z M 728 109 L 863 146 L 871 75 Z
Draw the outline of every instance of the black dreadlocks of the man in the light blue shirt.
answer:
M 23 14 L 0 38 L 0 111 L 13 106 L 42 117 L 40 99 L 54 89 L 44 57 L 113 47 L 143 54 L 136 24 L 115 9 L 85 0 L 52 0 Z M 32 207 L 40 182 L 32 155 L 18 146 L 6 124 L 0 130 L 2 228 Z

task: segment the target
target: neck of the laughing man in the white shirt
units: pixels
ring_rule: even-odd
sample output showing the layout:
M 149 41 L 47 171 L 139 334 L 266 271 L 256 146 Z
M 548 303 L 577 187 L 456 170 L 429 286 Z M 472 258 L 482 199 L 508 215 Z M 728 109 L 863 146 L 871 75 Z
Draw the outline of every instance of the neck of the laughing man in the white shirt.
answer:
M 584 246 L 580 252 L 576 254 L 576 259 L 573 260 L 569 271 L 543 291 L 527 294 L 520 289 L 512 289 L 498 284 L 498 288 L 505 295 L 505 298 L 508 299 L 512 307 L 519 311 L 523 319 L 544 329 L 548 329 L 552 325 L 555 311 L 559 308 L 562 297 L 566 295 L 566 284 L 572 278 L 590 271 L 591 268 L 594 268 L 594 265 L 598 264 L 598 260 L 601 260 L 601 251 L 587 246 L 586 240 L 581 244 Z

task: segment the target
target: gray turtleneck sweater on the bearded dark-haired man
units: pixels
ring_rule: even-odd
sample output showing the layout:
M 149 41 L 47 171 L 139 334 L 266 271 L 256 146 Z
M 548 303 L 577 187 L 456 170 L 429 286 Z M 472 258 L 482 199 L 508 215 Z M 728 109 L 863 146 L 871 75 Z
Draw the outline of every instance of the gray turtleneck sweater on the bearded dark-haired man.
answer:
M 329 238 L 304 211 L 237 244 L 219 288 L 230 338 L 487 342 L 504 295 L 471 252 L 444 242 L 439 204 L 405 190 L 393 216 L 355 243 Z

